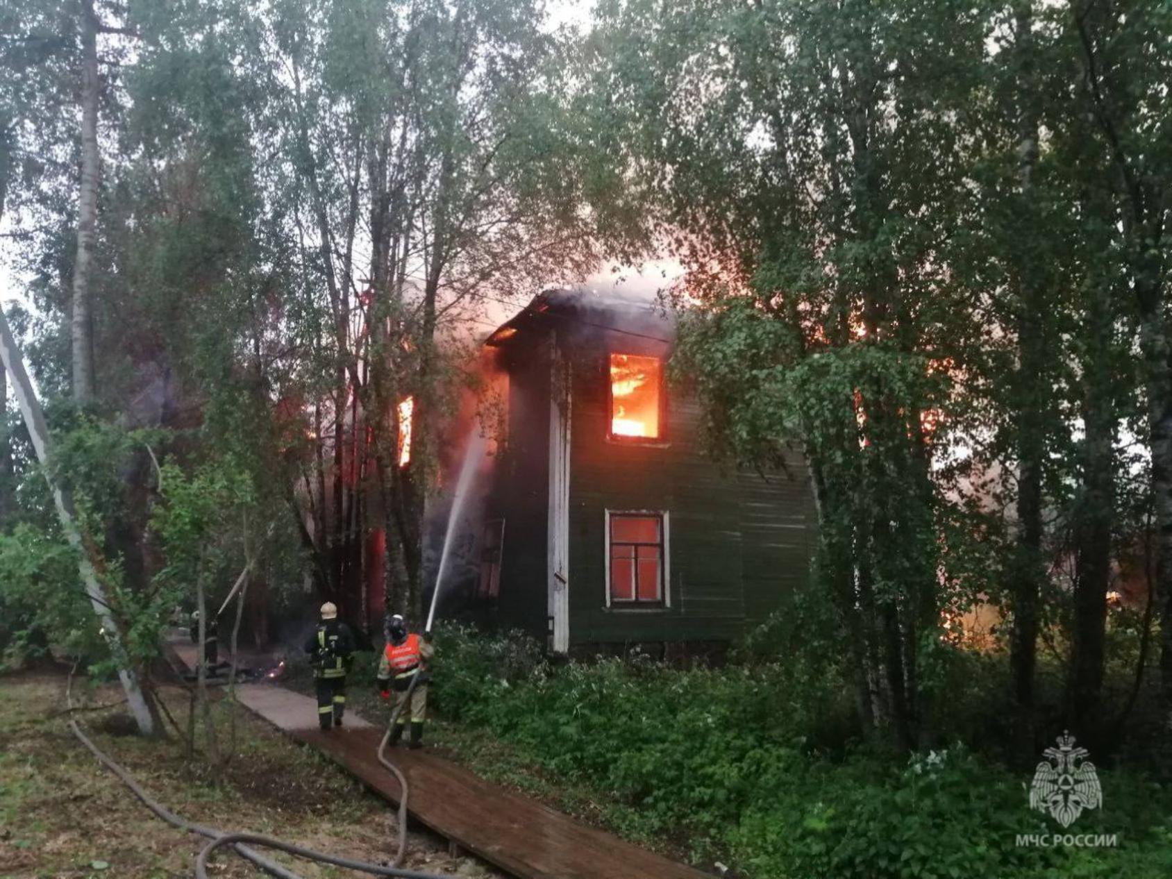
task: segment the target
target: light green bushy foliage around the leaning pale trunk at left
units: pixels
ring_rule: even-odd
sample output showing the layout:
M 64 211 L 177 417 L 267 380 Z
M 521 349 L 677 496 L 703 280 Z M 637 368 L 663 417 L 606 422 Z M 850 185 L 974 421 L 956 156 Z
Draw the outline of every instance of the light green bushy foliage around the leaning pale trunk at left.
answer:
M 185 473 L 175 463 L 155 470 L 148 449 L 162 449 L 166 431 L 123 430 L 70 408 L 52 413 L 54 457 L 48 471 L 71 496 L 82 539 L 122 635 L 124 656 L 114 656 L 101 636 L 84 593 L 77 554 L 60 524 L 38 469 L 26 473 L 18 499 L 23 519 L 0 534 L 0 649 L 15 666 L 50 652 L 84 657 L 96 677 L 121 663 L 144 668 L 159 654 L 173 611 L 190 601 L 197 578 L 205 585 L 243 566 L 243 541 L 257 538 L 257 497 L 248 472 L 225 456 Z M 134 497 L 136 470 L 162 488 L 162 503 Z M 252 530 L 248 516 L 252 516 Z M 145 520 L 149 516 L 149 520 Z M 144 534 L 162 564 L 146 575 L 141 547 L 125 533 Z

